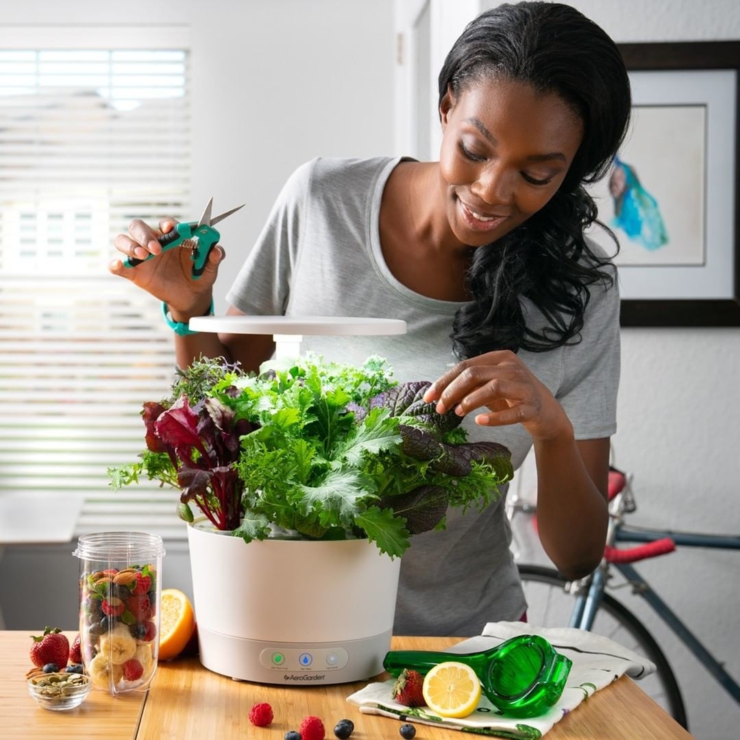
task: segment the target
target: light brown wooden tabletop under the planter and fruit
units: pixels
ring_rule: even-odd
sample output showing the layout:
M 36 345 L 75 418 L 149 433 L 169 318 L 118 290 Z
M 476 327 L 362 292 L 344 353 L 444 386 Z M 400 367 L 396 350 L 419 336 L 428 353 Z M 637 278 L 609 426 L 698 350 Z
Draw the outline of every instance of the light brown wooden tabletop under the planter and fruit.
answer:
M 30 668 L 26 632 L 0 632 L 0 736 L 13 740 L 283 740 L 300 720 L 315 714 L 324 720 L 327 739 L 337 720 L 354 722 L 352 739 L 400 738 L 400 723 L 360 714 L 346 697 L 363 683 L 326 687 L 279 687 L 238 682 L 211 673 L 197 658 L 161 663 L 148 694 L 115 699 L 92 690 L 78 709 L 50 712 L 28 696 Z M 394 649 L 440 650 L 451 640 L 438 637 L 394 638 Z M 275 721 L 269 728 L 249 724 L 249 707 L 269 702 Z M 417 740 L 461 740 L 471 735 L 417 725 Z M 690 740 L 652 699 L 628 678 L 602 689 L 559 721 L 547 740 Z

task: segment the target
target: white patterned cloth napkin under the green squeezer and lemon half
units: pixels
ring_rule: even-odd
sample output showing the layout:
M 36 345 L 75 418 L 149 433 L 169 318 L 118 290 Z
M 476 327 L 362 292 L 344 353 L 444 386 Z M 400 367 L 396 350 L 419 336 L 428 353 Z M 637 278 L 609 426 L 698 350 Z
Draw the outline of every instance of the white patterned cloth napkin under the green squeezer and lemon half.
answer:
M 471 637 L 446 648 L 448 653 L 477 653 L 488 650 L 518 635 L 541 635 L 559 652 L 573 661 L 571 673 L 560 699 L 547 713 L 528 719 L 507 717 L 499 713 L 482 694 L 477 709 L 462 719 L 449 719 L 431 714 L 426 707 L 405 707 L 394 702 L 391 693 L 394 680 L 371 683 L 347 697 L 360 712 L 380 714 L 394 719 L 433 724 L 468 733 L 494 735 L 515 740 L 537 740 L 584 699 L 608 686 L 625 673 L 641 679 L 653 673 L 655 665 L 626 647 L 585 630 L 565 627 L 537 628 L 525 622 L 489 622 L 482 635 Z

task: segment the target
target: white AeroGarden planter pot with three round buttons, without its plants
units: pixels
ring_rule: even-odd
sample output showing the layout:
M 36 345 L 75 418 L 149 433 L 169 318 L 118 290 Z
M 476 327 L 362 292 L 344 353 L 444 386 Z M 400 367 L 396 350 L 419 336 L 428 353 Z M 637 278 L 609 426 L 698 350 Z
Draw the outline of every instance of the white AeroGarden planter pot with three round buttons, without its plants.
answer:
M 269 684 L 361 681 L 390 648 L 400 558 L 366 539 L 250 542 L 188 527 L 201 663 Z

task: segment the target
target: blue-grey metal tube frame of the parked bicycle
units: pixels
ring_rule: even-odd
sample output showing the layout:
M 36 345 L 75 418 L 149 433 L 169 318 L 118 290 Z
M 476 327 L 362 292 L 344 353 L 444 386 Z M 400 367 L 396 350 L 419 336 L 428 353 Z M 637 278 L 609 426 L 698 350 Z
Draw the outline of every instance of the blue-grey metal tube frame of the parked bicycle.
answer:
M 664 537 L 670 537 L 676 542 L 676 545 L 684 545 L 686 547 L 740 550 L 740 536 L 693 534 L 643 528 L 634 529 L 627 525 L 622 525 L 619 520 L 613 522 L 614 542 L 653 542 L 656 539 L 662 539 Z M 596 571 L 591 576 L 581 581 L 573 582 L 572 591 L 576 593 L 576 605 L 573 608 L 571 627 L 591 630 L 611 567 L 616 568 L 619 573 L 622 573 L 625 580 L 632 586 L 633 593 L 637 593 L 645 599 L 663 622 L 676 633 L 684 645 L 696 656 L 696 659 L 707 668 L 724 690 L 736 702 L 740 703 L 740 684 L 724 670 L 721 663 L 704 647 L 696 635 L 687 628 L 673 609 L 653 591 L 650 584 L 636 571 L 633 565 L 623 562 L 608 562 L 604 559 L 601 565 L 599 565 L 599 568 L 596 568 Z

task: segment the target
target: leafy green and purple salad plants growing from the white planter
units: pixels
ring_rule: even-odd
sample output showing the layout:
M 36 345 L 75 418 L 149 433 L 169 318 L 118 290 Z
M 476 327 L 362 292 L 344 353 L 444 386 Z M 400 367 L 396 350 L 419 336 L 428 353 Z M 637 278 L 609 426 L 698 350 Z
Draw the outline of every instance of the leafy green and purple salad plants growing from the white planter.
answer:
M 449 506 L 483 508 L 512 475 L 496 443 L 468 443 L 454 413 L 422 397 L 429 383 L 397 383 L 386 361 L 362 366 L 307 354 L 244 374 L 223 359 L 181 371 L 172 396 L 144 404 L 147 451 L 110 471 L 181 490 L 246 542 L 282 528 L 300 536 L 367 536 L 400 556 L 411 534 L 443 528 Z

